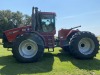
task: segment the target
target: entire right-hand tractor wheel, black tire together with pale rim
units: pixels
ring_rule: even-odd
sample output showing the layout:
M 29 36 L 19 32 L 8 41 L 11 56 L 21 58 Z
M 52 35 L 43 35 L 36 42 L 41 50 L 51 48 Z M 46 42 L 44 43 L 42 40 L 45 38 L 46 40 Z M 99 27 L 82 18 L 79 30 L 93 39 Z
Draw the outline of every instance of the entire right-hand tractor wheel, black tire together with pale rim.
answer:
M 98 53 L 99 41 L 90 32 L 75 33 L 70 40 L 70 53 L 79 59 L 91 59 Z

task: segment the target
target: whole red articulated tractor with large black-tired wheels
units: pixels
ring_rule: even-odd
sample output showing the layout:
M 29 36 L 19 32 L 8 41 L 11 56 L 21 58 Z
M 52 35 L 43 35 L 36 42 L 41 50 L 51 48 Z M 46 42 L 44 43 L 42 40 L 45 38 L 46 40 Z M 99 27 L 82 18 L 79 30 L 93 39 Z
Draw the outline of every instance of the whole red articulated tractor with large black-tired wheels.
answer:
M 3 32 L 4 48 L 12 48 L 13 56 L 19 62 L 35 62 L 43 56 L 44 48 L 54 51 L 56 34 L 54 12 L 41 12 L 32 8 L 32 25 Z M 77 28 L 77 27 L 74 27 Z M 58 32 L 59 46 L 79 59 L 91 59 L 98 53 L 99 42 L 87 31 L 61 29 Z

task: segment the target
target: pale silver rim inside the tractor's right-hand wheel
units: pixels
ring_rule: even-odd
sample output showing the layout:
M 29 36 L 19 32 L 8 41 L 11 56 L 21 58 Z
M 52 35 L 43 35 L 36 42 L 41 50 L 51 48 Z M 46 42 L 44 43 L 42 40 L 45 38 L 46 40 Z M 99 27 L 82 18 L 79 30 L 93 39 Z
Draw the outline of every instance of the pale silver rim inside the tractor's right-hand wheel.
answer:
M 82 38 L 78 44 L 79 51 L 84 54 L 88 55 L 94 51 L 95 44 L 92 39 L 90 38 Z

